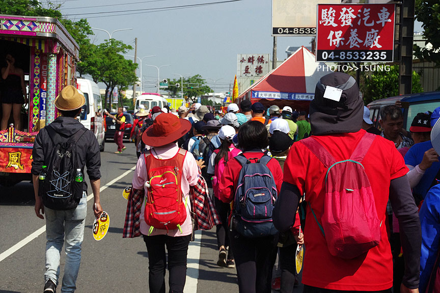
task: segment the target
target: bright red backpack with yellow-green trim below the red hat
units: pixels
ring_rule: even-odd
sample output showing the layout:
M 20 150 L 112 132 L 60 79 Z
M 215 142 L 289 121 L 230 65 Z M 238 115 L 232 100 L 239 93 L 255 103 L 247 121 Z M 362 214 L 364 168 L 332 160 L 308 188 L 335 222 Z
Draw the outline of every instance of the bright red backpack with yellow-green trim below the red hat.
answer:
M 180 226 L 186 219 L 186 203 L 183 202 L 180 182 L 185 155 L 183 149 L 167 160 L 144 154 L 149 178 L 144 218 L 150 225 L 149 235 L 153 228 L 182 231 Z

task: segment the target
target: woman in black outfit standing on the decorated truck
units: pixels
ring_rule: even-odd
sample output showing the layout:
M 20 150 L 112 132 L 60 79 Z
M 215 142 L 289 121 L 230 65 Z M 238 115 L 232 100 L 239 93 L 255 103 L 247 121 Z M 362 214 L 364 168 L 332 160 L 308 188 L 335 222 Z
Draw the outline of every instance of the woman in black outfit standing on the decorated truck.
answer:
M 24 72 L 15 67 L 15 58 L 10 53 L 6 54 L 7 67 L 2 68 L 4 86 L 2 89 L 2 122 L 0 130 L 8 128 L 9 116 L 14 117 L 15 128 L 21 130 L 20 110 L 21 105 L 27 103 L 26 86 L 24 85 Z

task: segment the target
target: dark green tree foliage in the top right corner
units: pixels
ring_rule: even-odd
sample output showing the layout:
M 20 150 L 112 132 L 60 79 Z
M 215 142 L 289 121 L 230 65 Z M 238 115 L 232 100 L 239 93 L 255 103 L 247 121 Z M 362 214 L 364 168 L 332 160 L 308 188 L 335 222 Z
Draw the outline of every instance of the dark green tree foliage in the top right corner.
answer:
M 415 55 L 421 60 L 434 62 L 440 67 L 440 2 L 438 0 L 416 0 L 416 19 L 423 23 L 426 42 L 431 49 L 414 45 Z

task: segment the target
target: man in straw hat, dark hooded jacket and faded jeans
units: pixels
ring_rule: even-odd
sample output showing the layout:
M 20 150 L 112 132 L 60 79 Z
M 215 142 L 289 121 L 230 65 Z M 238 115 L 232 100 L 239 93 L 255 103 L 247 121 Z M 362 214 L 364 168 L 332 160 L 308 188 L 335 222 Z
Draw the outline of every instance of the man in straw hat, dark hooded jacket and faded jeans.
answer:
M 66 173 L 75 174 L 75 169 L 84 173 L 84 167 L 87 165 L 87 173 L 89 175 L 90 184 L 92 185 L 94 204 L 93 212 L 95 217 L 98 217 L 101 212 L 101 204 L 99 200 L 99 187 L 101 173 L 101 157 L 99 153 L 99 144 L 96 140 L 95 134 L 84 128 L 84 126 L 76 119 L 81 112 L 81 107 L 85 104 L 85 98 L 78 93 L 76 88 L 72 85 L 66 86 L 61 94 L 55 100 L 55 106 L 61 114 L 55 121 L 40 130 L 34 142 L 34 149 L 32 151 L 32 178 L 35 191 L 35 213 L 37 217 L 44 219 L 43 214 L 46 215 L 46 272 L 45 278 L 45 293 L 56 292 L 59 283 L 60 275 L 60 254 L 63 244 L 66 244 L 66 262 L 64 266 L 64 277 L 61 290 L 63 292 L 73 292 L 76 289 L 76 278 L 78 276 L 79 264 L 81 262 L 81 244 L 84 238 L 84 226 L 87 214 L 87 183 L 79 183 L 82 186 L 82 197 L 74 198 L 75 208 L 65 210 L 57 209 L 57 203 L 51 205 L 51 208 L 46 206 L 46 197 L 43 191 L 40 190 L 42 196 L 39 196 L 39 187 L 42 175 L 46 166 L 48 166 L 48 173 L 46 180 L 53 179 L 51 175 L 51 164 L 53 156 L 69 157 L 74 155 L 75 166 L 72 170 Z M 72 142 L 75 140 L 76 142 Z M 54 141 L 57 141 L 56 144 Z M 72 142 L 72 153 L 60 153 L 59 145 L 66 142 Z M 54 153 L 55 150 L 58 152 Z M 62 156 L 63 155 L 63 156 Z M 69 157 L 70 158 L 70 157 Z M 64 162 L 64 161 L 63 161 Z M 44 167 L 43 167 L 44 166 Z M 43 170 L 43 172 L 42 172 Z M 60 169 L 61 170 L 61 169 Z M 56 170 L 54 170 L 55 172 Z M 65 171 L 65 170 L 63 170 Z M 68 174 L 69 175 L 69 174 Z M 52 177 L 51 177 L 52 176 Z M 75 174 L 76 176 L 76 174 Z M 72 182 L 71 180 L 70 182 Z M 81 178 L 82 181 L 82 178 Z M 81 182 L 75 179 L 75 184 Z M 70 184 L 68 182 L 68 184 Z M 43 181 L 45 184 L 45 181 Z M 58 186 L 58 185 L 57 185 Z M 77 185 L 76 185 L 77 186 Z M 43 185 L 44 187 L 44 185 Z M 57 187 L 58 188 L 58 187 Z M 65 187 L 60 187 L 60 189 Z M 76 188 L 72 189 L 75 191 Z M 67 190 L 67 189 L 66 189 Z M 72 192 L 74 192 L 72 191 Z M 81 192 L 79 191 L 79 194 Z M 78 202 L 79 200 L 79 202 Z M 54 201 L 52 201 L 53 203 Z M 58 203 L 61 206 L 61 203 Z

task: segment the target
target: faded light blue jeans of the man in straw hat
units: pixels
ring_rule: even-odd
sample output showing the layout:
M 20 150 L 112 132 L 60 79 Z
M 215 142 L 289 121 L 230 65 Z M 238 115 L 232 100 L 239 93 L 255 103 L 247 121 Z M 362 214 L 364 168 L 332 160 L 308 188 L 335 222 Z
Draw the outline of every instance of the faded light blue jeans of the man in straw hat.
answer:
M 60 254 L 65 241 L 66 264 L 61 292 L 74 292 L 81 262 L 81 244 L 84 239 L 87 214 L 87 194 L 85 191 L 82 192 L 82 198 L 76 209 L 56 211 L 45 207 L 44 211 L 47 239 L 44 281 L 50 279 L 55 285 L 58 285 Z

